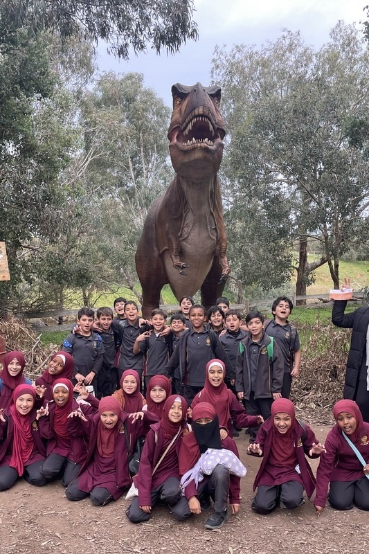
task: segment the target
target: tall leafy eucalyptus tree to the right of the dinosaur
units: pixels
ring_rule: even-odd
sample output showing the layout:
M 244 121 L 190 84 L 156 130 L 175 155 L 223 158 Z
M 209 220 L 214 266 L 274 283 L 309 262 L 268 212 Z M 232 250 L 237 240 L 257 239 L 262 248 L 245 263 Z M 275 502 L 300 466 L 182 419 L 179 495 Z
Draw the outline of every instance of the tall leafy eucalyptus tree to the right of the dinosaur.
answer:
M 361 236 L 368 206 L 368 61 L 357 29 L 342 22 L 320 51 L 288 31 L 260 48 L 215 51 L 213 78 L 222 82 L 231 130 L 226 217 L 246 283 L 264 271 L 280 284 L 288 244 L 314 237 L 321 256 L 314 264 L 300 257 L 298 286 L 325 262 L 337 286 L 339 260 Z

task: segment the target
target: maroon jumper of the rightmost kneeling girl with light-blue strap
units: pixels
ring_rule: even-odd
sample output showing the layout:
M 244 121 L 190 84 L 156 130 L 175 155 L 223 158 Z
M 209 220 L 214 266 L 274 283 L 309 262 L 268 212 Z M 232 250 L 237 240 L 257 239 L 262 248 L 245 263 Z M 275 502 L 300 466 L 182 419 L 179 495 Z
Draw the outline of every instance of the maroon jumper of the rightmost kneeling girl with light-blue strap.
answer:
M 359 439 L 354 445 L 369 463 L 369 423 L 363 422 Z M 314 505 L 325 508 L 330 481 L 356 481 L 363 477 L 363 465 L 357 458 L 338 426 L 327 434 L 325 449 L 316 472 L 316 497 Z

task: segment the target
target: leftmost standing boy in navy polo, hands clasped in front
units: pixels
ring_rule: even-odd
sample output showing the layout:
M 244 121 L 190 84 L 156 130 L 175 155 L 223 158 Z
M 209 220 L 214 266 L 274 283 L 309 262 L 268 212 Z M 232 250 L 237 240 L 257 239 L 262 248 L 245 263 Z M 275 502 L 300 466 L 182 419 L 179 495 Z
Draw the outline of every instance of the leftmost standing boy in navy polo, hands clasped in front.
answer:
M 104 345 L 100 334 L 92 330 L 95 312 L 89 307 L 78 310 L 78 334 L 69 333 L 63 342 L 62 350 L 69 352 L 74 359 L 73 384 L 78 382 L 93 386 L 96 391 L 97 379 L 104 355 Z

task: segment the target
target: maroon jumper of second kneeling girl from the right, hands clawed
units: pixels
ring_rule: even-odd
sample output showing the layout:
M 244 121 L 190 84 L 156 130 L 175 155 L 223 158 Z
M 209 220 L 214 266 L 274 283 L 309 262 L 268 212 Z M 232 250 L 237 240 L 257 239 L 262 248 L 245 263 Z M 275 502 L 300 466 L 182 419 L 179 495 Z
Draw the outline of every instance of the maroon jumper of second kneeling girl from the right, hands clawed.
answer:
M 305 429 L 303 429 L 302 425 L 295 420 L 295 456 L 291 459 L 291 463 L 289 465 L 276 466 L 271 465 L 268 461 L 269 454 L 271 453 L 271 443 L 273 441 L 273 425 L 273 418 L 269 418 L 262 424 L 256 436 L 255 443 L 260 444 L 263 458 L 258 474 L 256 474 L 255 481 L 253 483 L 253 490 L 255 490 L 259 485 L 273 487 L 287 483 L 287 481 L 297 481 L 303 485 L 307 497 L 310 498 L 314 492 L 316 481 L 312 469 L 305 458 L 305 454 L 309 456 L 309 450 L 312 449 L 313 443 L 318 444 L 318 440 L 316 439 L 314 432 L 310 429 L 309 425 L 305 425 Z M 309 456 L 309 458 L 318 457 L 319 456 L 316 454 Z M 300 466 L 300 474 L 295 469 L 297 464 Z

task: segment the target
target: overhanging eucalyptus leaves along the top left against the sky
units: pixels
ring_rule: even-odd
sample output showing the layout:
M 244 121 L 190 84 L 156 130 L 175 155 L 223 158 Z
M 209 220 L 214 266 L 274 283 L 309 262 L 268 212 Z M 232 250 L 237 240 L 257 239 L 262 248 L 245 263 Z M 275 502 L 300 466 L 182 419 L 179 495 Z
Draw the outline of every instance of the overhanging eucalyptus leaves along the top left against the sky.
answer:
M 0 41 L 9 28 L 26 28 L 30 36 L 51 30 L 62 39 L 102 39 L 125 60 L 129 48 L 138 53 L 147 44 L 174 53 L 197 39 L 193 11 L 192 0 L 1 0 Z

